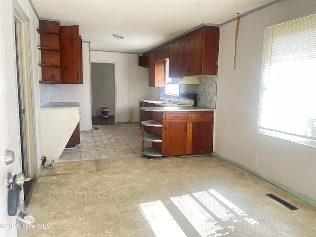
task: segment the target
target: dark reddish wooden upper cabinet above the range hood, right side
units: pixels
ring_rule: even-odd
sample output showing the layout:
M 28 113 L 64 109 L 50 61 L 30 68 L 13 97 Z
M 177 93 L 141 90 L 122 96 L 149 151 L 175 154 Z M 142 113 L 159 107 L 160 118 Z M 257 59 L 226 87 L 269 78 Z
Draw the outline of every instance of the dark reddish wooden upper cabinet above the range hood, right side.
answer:
M 169 45 L 169 77 L 217 75 L 219 28 L 203 26 Z

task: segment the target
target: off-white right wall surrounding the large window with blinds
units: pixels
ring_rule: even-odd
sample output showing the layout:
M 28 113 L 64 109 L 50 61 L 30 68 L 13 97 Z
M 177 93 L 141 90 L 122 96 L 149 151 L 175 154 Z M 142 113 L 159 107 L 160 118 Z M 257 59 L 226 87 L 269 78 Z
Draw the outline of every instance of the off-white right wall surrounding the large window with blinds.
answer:
M 286 0 L 221 27 L 214 151 L 316 200 L 316 149 L 256 133 L 265 27 L 316 11 L 315 0 Z M 293 108 L 295 113 L 295 108 Z

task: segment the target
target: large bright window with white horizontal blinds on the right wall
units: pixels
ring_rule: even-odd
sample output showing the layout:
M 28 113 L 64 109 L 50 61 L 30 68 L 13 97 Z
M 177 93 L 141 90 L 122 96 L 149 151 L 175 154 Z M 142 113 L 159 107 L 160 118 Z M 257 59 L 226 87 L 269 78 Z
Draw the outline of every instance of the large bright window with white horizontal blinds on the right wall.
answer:
M 258 130 L 316 147 L 316 15 L 266 29 Z

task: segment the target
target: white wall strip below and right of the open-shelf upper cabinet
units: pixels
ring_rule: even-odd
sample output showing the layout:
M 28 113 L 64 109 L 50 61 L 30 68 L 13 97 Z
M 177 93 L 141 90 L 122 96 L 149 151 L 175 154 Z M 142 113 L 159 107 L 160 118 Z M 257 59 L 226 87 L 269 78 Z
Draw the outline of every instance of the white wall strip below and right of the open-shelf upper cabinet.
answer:
M 83 84 L 53 84 L 54 102 L 79 102 L 80 131 L 92 130 L 90 45 L 82 42 Z

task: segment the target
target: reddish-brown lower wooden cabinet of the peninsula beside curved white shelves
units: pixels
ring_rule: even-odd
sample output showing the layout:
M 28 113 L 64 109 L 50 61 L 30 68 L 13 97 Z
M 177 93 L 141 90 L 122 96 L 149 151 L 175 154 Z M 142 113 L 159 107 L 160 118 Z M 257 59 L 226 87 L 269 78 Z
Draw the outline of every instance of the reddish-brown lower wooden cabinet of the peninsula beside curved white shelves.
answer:
M 213 152 L 214 111 L 147 112 L 161 127 L 149 133 L 162 140 L 153 148 L 162 156 L 201 155 Z

